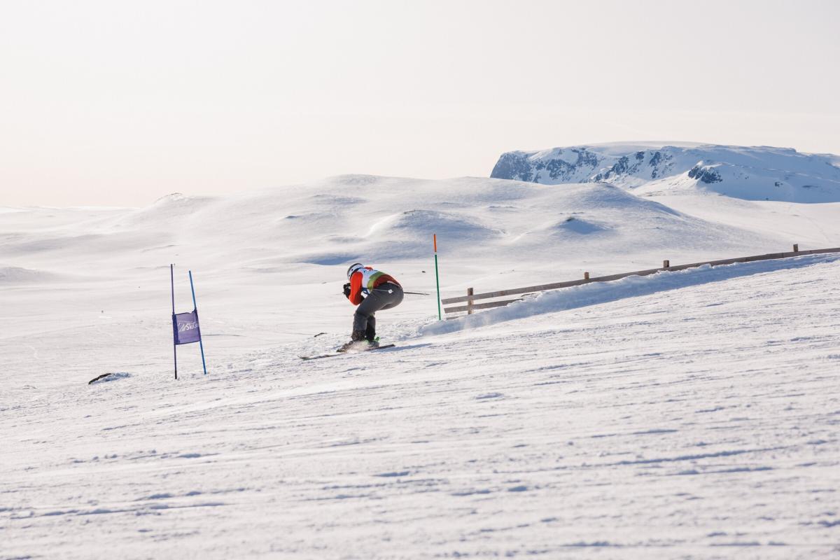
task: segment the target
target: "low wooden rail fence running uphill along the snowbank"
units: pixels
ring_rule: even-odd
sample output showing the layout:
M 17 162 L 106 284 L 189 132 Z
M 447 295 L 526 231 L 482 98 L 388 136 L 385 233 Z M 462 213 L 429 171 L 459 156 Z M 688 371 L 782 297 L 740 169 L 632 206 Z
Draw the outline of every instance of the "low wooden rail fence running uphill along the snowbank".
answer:
M 636 270 L 634 272 L 623 272 L 617 275 L 596 276 L 595 278 L 590 278 L 589 273 L 585 272 L 583 273 L 582 280 L 567 280 L 565 282 L 554 282 L 553 284 L 530 285 L 526 288 L 514 288 L 512 290 L 488 291 L 483 294 L 476 294 L 475 290 L 473 290 L 472 288 L 467 288 L 466 296 L 449 297 L 444 300 L 441 300 L 441 303 L 447 305 L 452 303 L 465 302 L 466 305 L 463 306 L 444 307 L 444 311 L 447 315 L 461 313 L 464 311 L 466 311 L 468 315 L 471 315 L 473 311 L 478 311 L 481 309 L 491 309 L 492 307 L 507 306 L 507 304 L 513 303 L 514 301 L 520 301 L 522 300 L 522 298 L 518 297 L 512 300 L 503 301 L 487 301 L 486 303 L 475 303 L 475 300 L 494 300 L 496 298 L 505 296 L 517 296 L 520 294 L 529 294 L 536 291 L 557 290 L 559 288 L 568 288 L 573 285 L 589 284 L 591 282 L 608 282 L 610 280 L 619 280 L 621 278 L 627 278 L 627 276 L 653 275 L 657 272 L 662 272 L 663 270 L 685 270 L 695 268 L 697 266 L 703 266 L 704 264 L 717 266 L 720 264 L 750 263 L 756 260 L 788 259 L 790 257 L 798 257 L 803 254 L 820 253 L 840 253 L 840 247 L 835 247 L 833 249 L 813 249 L 811 251 L 800 251 L 799 245 L 794 245 L 793 251 L 791 251 L 790 253 L 757 254 L 750 257 L 738 257 L 737 259 L 708 260 L 702 263 L 679 264 L 677 266 L 671 266 L 670 261 L 664 260 L 662 262 L 662 268 L 659 269 Z M 447 318 L 454 319 L 456 317 Z

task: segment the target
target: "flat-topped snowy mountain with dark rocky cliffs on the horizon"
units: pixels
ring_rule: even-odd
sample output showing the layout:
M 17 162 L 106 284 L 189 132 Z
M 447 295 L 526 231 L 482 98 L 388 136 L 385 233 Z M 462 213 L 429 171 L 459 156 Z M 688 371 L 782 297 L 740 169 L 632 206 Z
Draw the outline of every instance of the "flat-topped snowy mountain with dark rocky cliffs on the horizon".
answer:
M 713 191 L 745 200 L 840 201 L 840 156 L 715 144 L 593 144 L 501 154 L 491 177 L 605 182 L 637 194 Z

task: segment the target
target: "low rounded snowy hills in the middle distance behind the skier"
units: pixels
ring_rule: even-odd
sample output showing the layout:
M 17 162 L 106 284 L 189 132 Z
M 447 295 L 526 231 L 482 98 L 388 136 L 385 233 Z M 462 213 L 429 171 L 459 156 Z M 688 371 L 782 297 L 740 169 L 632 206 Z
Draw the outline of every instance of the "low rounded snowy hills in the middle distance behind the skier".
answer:
M 134 270 L 186 255 L 194 266 L 201 259 L 262 272 L 290 263 L 425 259 L 433 234 L 459 259 L 484 262 L 491 254 L 508 268 L 556 261 L 558 251 L 564 260 L 639 247 L 703 258 L 712 249 L 727 256 L 789 244 L 604 183 L 560 189 L 472 177 L 340 175 L 229 196 L 176 193 L 148 207 L 91 213 L 27 209 L 0 220 L 0 284 L 31 283 L 62 265 L 68 274 L 91 261 Z

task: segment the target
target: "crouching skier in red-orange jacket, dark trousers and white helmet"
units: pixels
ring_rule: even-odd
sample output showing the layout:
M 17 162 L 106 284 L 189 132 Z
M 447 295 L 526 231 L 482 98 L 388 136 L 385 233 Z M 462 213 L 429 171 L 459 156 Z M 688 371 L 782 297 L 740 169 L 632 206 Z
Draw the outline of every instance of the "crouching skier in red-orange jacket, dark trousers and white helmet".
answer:
M 353 316 L 353 334 L 350 342 L 339 348 L 339 352 L 346 352 L 350 348 L 376 348 L 376 311 L 391 309 L 402 302 L 402 286 L 393 276 L 374 270 L 370 266 L 354 263 L 347 269 L 347 280 L 344 285 L 344 296 L 356 308 Z

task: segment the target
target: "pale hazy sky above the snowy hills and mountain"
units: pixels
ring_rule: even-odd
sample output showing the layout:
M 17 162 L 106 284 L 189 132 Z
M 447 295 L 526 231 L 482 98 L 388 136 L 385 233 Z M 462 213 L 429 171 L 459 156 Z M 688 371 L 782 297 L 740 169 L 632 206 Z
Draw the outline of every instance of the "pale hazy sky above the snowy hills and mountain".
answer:
M 840 154 L 840 2 L 0 0 L 0 207 L 490 175 L 627 140 Z

